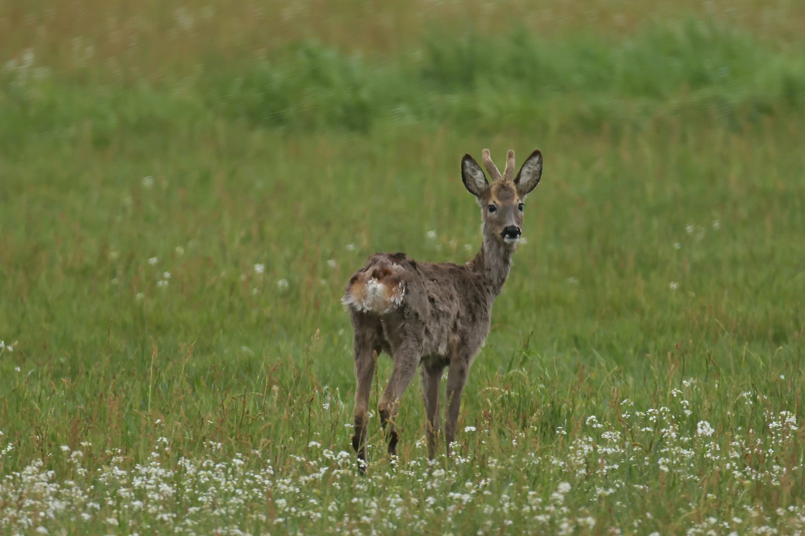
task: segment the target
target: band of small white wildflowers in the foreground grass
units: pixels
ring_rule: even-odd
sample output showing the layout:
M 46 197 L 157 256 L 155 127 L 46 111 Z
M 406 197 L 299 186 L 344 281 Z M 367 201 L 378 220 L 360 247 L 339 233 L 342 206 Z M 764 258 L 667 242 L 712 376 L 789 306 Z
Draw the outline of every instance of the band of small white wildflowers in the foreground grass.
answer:
M 680 411 L 639 411 L 623 400 L 612 419 L 586 415 L 547 443 L 530 429 L 517 432 L 512 449 L 497 456 L 487 450 L 495 432 L 474 426 L 463 428 L 474 452 L 456 444 L 449 458 L 427 460 L 422 440 L 392 460 L 373 449 L 366 475 L 357 472 L 352 452 L 320 440 L 289 438 L 281 458 L 256 450 L 225 454 L 209 441 L 200 455 L 184 456 L 160 437 L 136 462 L 119 449 L 93 458 L 85 456 L 89 443 L 62 445 L 0 482 L 0 530 L 621 534 L 628 520 L 650 534 L 663 528 L 663 516 L 679 517 L 662 505 L 682 495 L 688 511 L 708 512 L 704 522 L 689 517 L 687 534 L 805 534 L 805 509 L 778 499 L 772 508 L 763 499 L 764 490 L 791 489 L 803 479 L 792 456 L 802 440 L 797 415 L 766 411 L 764 429 L 726 432 L 692 418 L 682 391 L 671 395 Z M 749 404 L 752 398 L 744 397 Z M 13 444 L 0 447 L 2 462 Z M 730 499 L 724 509 L 717 489 L 761 493 Z

